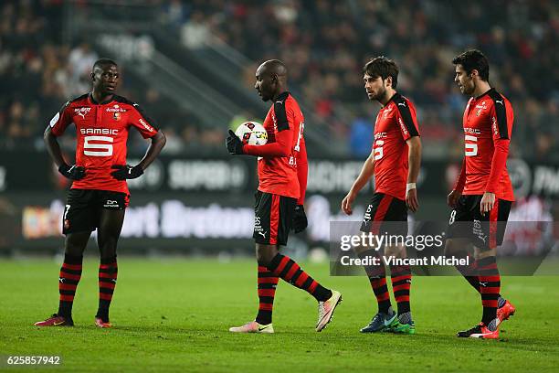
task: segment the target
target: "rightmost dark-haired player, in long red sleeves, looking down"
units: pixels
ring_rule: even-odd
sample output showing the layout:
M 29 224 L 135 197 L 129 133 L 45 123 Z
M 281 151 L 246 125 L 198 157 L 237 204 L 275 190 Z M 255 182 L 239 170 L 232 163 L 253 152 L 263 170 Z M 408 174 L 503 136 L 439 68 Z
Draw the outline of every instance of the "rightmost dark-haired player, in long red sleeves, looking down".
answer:
M 458 336 L 498 338 L 499 325 L 514 314 L 512 304 L 501 297 L 501 276 L 495 259 L 501 245 L 514 195 L 507 172 L 514 113 L 511 102 L 490 87 L 489 62 L 477 49 L 452 60 L 460 91 L 470 96 L 462 119 L 465 153 L 459 179 L 448 195 L 453 208 L 448 220 L 447 255 L 475 259 L 457 267 L 480 293 L 483 314 L 480 325 Z

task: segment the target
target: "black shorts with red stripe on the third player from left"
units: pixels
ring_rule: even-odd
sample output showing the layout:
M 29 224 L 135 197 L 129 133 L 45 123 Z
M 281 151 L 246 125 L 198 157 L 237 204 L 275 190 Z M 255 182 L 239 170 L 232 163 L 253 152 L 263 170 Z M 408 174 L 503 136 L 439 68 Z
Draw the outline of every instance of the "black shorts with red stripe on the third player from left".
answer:
M 406 235 L 406 201 L 384 193 L 374 193 L 365 210 L 361 231 L 373 234 Z

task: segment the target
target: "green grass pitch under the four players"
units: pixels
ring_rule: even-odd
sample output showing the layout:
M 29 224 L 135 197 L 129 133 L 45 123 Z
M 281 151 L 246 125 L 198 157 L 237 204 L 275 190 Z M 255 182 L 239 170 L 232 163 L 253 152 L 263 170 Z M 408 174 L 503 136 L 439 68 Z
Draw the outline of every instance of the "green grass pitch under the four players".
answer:
M 0 355 L 61 356 L 40 371 L 557 371 L 559 277 L 505 277 L 502 293 L 517 314 L 501 340 L 459 339 L 480 319 L 480 301 L 459 277 L 415 277 L 415 336 L 362 335 L 376 310 L 364 277 L 330 277 L 326 264 L 303 263 L 343 293 L 334 319 L 316 333 L 316 302 L 280 282 L 275 335 L 227 329 L 256 315 L 256 263 L 119 258 L 112 329 L 93 325 L 97 261 L 85 262 L 73 328 L 33 326 L 58 305 L 55 261 L 0 261 Z M 0 370 L 6 368 L 0 366 Z M 13 368 L 25 371 L 31 368 Z M 36 368 L 37 369 L 37 368 Z

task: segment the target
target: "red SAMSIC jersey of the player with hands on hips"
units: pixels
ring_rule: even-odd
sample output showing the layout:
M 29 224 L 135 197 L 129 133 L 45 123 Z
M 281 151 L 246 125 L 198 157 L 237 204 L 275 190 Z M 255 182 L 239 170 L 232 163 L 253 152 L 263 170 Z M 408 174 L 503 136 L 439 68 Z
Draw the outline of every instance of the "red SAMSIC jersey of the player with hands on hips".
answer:
M 99 189 L 128 193 L 125 180 L 111 176 L 112 165 L 126 165 L 126 141 L 130 127 L 143 138 L 153 137 L 157 128 L 137 103 L 114 96 L 98 104 L 90 94 L 68 101 L 50 121 L 51 132 L 59 136 L 70 123 L 76 126 L 76 165 L 85 167 L 86 176 L 72 183 L 72 189 Z

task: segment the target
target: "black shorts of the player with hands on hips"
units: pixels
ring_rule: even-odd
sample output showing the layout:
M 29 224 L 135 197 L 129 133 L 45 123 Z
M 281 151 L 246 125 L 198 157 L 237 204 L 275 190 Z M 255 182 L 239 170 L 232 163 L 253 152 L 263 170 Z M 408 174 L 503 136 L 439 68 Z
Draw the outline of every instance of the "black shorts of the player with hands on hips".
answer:
M 102 209 L 128 207 L 126 193 L 96 189 L 70 189 L 62 218 L 62 233 L 93 231 L 99 227 Z

